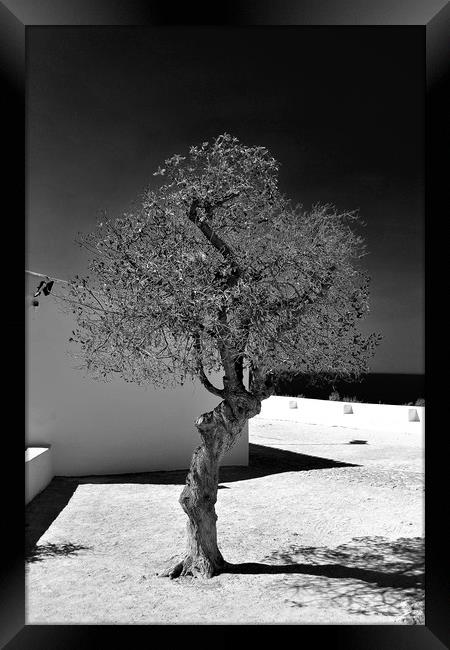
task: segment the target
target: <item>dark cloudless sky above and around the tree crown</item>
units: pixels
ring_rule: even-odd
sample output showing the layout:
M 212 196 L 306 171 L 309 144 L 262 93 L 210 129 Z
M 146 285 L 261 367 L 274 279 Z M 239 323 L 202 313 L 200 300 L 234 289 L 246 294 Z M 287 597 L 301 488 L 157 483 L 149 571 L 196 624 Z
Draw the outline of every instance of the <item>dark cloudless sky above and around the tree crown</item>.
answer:
M 281 189 L 359 209 L 374 372 L 424 370 L 423 30 L 29 28 L 27 268 L 85 269 L 74 243 L 173 153 L 223 132 L 266 146 Z

